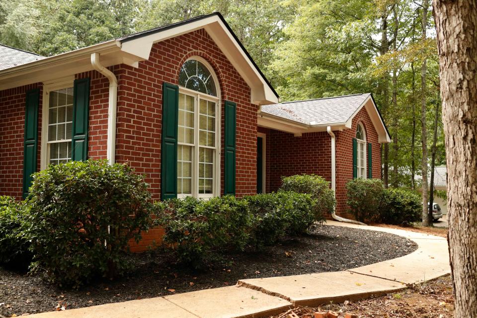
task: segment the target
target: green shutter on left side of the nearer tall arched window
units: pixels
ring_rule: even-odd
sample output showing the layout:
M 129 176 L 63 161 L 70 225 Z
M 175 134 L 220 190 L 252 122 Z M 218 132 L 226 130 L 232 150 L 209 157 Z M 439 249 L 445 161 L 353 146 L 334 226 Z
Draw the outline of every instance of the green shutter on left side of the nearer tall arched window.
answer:
M 177 197 L 179 86 L 162 85 L 161 199 Z

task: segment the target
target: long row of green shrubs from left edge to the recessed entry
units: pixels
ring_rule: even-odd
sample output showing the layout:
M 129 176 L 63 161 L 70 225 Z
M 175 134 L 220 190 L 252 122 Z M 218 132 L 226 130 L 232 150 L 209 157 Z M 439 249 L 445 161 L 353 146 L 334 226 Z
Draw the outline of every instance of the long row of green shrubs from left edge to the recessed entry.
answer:
M 72 161 L 33 179 L 25 201 L 0 197 L 0 263 L 30 266 L 60 286 L 122 275 L 128 241 L 154 225 L 164 228 L 164 242 L 180 261 L 200 265 L 222 251 L 304 233 L 334 206 L 329 183 L 317 176 L 288 177 L 277 193 L 243 199 L 155 204 L 144 177 L 125 164 Z

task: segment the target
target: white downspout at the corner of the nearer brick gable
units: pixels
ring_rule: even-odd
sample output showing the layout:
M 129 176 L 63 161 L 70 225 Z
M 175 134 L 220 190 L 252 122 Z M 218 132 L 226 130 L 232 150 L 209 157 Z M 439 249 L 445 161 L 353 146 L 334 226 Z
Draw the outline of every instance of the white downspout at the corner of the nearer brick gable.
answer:
M 99 53 L 91 53 L 92 67 L 109 79 L 109 101 L 108 101 L 108 140 L 106 159 L 109 164 L 114 164 L 116 154 L 116 103 L 118 96 L 118 80 L 113 72 L 106 69 L 99 63 Z

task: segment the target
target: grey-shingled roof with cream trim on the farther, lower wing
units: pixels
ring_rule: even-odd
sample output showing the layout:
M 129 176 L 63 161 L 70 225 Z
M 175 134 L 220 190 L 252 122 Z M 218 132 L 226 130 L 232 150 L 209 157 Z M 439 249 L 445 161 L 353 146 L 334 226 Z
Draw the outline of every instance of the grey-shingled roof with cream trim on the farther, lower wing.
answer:
M 258 125 L 300 136 L 307 132 L 351 128 L 352 120 L 363 108 L 378 133 L 380 143 L 391 141 L 388 129 L 371 93 L 325 97 L 262 105 Z

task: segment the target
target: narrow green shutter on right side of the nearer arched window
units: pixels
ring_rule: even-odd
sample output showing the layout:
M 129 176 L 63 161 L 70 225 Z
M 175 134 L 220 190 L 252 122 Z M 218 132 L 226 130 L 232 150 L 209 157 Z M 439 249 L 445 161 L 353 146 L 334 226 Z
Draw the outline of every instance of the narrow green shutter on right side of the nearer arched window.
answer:
M 235 135 L 237 129 L 237 104 L 225 101 L 225 171 L 224 194 L 235 195 Z

